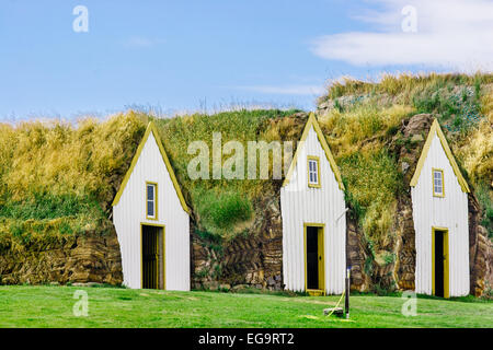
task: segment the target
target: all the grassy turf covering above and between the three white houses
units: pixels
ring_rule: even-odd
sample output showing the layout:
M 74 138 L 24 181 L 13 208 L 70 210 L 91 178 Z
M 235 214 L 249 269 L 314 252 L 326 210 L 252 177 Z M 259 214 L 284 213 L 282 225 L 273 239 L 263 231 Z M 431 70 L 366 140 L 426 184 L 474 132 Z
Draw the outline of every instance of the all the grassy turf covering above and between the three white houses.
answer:
M 346 197 L 376 252 L 391 240 L 397 198 L 406 187 L 389 144 L 411 142 L 399 129 L 417 113 L 438 117 L 493 235 L 492 86 L 493 75 L 404 74 L 379 83 L 346 80 L 320 98 L 319 120 L 347 185 Z M 203 140 L 211 149 L 215 131 L 222 133 L 222 144 L 298 140 L 306 115 L 296 113 L 237 110 L 156 120 L 202 231 L 221 237 L 243 232 L 257 201 L 274 196 L 280 182 L 191 180 L 187 164 L 195 155 L 187 154 L 188 144 Z M 130 110 L 76 125 L 0 124 L 0 244 L 2 237 L 22 244 L 104 231 L 112 199 L 150 119 Z

